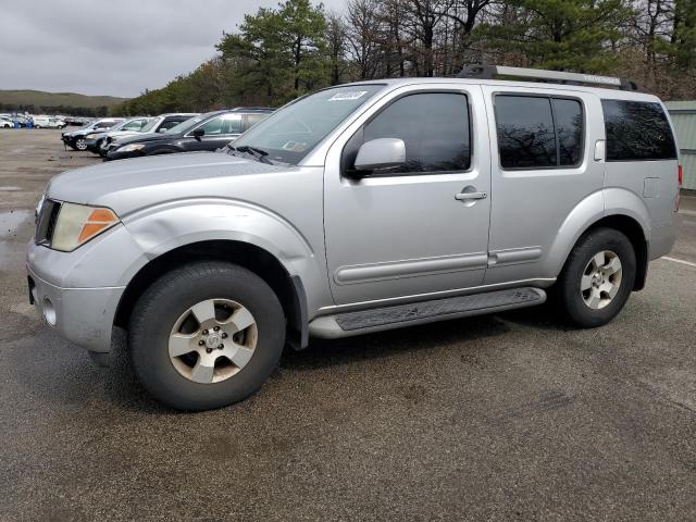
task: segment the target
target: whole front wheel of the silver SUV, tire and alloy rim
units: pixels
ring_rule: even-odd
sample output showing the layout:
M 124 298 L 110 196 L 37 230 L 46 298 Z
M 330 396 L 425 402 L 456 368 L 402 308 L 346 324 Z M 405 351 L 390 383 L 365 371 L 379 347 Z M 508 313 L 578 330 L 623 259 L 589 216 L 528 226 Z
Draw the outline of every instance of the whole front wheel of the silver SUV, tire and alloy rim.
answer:
M 138 300 L 129 345 L 135 373 L 158 400 L 209 410 L 257 391 L 285 344 L 283 308 L 271 287 L 241 266 L 184 265 Z

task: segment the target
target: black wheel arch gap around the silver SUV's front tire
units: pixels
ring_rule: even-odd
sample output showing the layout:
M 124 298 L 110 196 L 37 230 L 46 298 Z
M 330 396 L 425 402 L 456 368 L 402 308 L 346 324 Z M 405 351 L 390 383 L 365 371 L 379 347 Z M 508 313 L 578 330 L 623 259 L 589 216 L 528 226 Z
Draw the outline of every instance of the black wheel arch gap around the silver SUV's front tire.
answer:
M 278 297 L 288 324 L 287 339 L 296 349 L 309 340 L 307 296 L 299 276 L 290 275 L 268 250 L 231 239 L 201 240 L 179 246 L 145 264 L 126 285 L 114 316 L 114 326 L 127 330 L 136 302 L 163 273 L 191 261 L 227 261 L 259 275 Z

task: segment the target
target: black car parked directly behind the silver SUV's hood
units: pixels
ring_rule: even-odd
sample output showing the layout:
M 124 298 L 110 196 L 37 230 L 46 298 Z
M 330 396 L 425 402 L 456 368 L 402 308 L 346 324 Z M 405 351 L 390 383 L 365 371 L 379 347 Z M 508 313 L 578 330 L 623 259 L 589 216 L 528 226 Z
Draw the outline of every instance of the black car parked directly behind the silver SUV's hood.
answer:
M 148 134 L 111 144 L 105 160 L 173 152 L 214 151 L 273 112 L 268 108 L 237 108 L 192 117 L 163 134 Z

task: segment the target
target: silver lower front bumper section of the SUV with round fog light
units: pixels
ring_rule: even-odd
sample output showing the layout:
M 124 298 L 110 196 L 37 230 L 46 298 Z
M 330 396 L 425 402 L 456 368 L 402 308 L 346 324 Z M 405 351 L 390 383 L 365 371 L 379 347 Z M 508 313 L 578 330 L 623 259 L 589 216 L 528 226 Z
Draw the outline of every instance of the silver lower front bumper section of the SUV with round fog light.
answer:
M 61 288 L 27 265 L 30 300 L 62 337 L 90 351 L 111 349 L 111 331 L 125 288 Z

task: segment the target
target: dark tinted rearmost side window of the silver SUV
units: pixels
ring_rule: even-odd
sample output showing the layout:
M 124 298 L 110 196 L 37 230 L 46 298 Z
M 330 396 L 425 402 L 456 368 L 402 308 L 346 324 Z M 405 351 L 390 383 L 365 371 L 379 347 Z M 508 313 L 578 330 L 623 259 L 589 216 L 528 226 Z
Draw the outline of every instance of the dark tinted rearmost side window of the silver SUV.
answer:
M 673 160 L 676 147 L 659 103 L 601 100 L 607 161 Z

